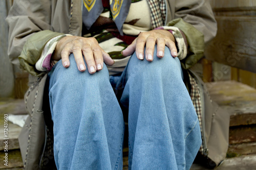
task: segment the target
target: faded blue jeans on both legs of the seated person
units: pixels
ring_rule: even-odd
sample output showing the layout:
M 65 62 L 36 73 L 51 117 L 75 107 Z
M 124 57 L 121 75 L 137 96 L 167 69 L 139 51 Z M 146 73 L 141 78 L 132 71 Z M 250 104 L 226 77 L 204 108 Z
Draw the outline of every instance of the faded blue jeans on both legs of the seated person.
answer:
M 156 50 L 155 50 L 156 51 Z M 129 110 L 130 169 L 189 169 L 201 145 L 197 114 L 178 58 L 132 55 L 117 91 Z M 51 70 L 50 107 L 58 169 L 122 169 L 124 121 L 109 72 L 80 72 L 70 55 Z

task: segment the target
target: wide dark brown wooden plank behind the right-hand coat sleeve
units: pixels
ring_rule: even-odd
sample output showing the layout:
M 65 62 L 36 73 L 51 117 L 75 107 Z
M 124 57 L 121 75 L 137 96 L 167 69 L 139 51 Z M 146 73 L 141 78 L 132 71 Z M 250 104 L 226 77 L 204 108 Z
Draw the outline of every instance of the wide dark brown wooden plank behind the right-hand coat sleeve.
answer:
M 205 57 L 256 72 L 256 16 L 216 16 L 218 32 L 205 47 Z

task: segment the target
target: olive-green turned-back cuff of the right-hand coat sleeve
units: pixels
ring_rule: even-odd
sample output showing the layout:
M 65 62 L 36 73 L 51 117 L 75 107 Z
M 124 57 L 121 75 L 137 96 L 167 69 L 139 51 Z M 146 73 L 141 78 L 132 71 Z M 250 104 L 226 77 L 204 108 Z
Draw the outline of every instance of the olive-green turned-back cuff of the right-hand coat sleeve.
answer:
M 182 18 L 168 22 L 167 26 L 177 27 L 185 34 L 188 49 L 187 57 L 181 60 L 181 66 L 184 69 L 190 68 L 204 56 L 204 35 Z

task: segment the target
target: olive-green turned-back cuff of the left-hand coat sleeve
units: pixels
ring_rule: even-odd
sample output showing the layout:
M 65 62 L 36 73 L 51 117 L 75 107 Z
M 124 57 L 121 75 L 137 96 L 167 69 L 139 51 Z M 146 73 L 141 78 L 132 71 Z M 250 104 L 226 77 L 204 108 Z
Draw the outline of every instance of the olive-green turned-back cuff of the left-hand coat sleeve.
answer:
M 20 66 L 31 75 L 39 77 L 45 72 L 37 71 L 35 64 L 40 58 L 46 43 L 53 37 L 63 35 L 62 33 L 44 30 L 33 34 L 24 44 L 22 53 L 18 56 Z

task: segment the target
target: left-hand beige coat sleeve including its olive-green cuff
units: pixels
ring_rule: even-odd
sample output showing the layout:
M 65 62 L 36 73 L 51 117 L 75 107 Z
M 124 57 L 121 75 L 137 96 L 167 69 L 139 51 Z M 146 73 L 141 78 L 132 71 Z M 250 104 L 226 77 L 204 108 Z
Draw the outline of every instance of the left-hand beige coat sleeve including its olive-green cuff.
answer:
M 38 75 L 33 67 L 40 54 L 36 56 L 27 54 L 34 54 L 31 50 L 37 50 L 40 53 L 49 39 L 59 35 L 49 31 L 51 30 L 51 1 L 15 0 L 6 21 L 9 25 L 8 55 L 11 62 L 19 65 L 18 56 L 22 54 L 24 61 L 20 66 L 30 73 L 33 72 L 32 75 Z M 40 37 L 45 35 L 47 38 Z M 31 37 L 33 37 L 32 40 L 28 41 Z M 26 49 L 30 52 L 24 51 Z

